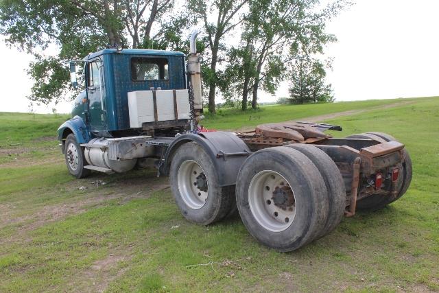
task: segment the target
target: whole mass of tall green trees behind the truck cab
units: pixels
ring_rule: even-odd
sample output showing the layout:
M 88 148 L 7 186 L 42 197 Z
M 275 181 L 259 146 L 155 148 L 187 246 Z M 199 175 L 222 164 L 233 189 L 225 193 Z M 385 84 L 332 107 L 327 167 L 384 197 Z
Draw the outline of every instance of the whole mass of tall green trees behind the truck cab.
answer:
M 35 56 L 29 96 L 36 104 L 72 99 L 69 60 L 121 44 L 124 47 L 189 51 L 187 28 L 202 25 L 198 51 L 208 110 L 218 92 L 227 104 L 257 108 L 258 92 L 274 94 L 298 56 L 323 54 L 335 40 L 326 23 L 350 5 L 333 0 L 3 0 L 0 34 L 8 45 Z M 181 7 L 174 7 L 176 5 Z M 239 35 L 237 32 L 241 32 Z M 239 36 L 231 47 L 226 37 Z M 56 56 L 45 49 L 57 47 Z M 249 98 L 250 96 L 250 98 Z

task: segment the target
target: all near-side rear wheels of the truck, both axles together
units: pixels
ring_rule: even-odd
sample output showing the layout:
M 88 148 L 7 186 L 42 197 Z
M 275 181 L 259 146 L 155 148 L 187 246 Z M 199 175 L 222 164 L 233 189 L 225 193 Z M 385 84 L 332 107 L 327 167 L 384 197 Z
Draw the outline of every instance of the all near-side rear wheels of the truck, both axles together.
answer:
M 279 251 L 331 232 L 343 217 L 346 192 L 335 163 L 312 145 L 267 148 L 242 165 L 235 186 L 220 187 L 200 145 L 185 143 L 171 161 L 171 189 L 182 215 L 211 224 L 233 213 L 250 234 Z

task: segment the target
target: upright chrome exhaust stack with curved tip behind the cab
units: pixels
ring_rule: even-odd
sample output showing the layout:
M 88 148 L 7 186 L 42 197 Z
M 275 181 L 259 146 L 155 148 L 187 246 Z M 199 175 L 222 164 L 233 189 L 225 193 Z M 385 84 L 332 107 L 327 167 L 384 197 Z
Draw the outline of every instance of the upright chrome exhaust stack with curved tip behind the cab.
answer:
M 188 58 L 188 69 L 191 75 L 191 84 L 193 89 L 193 106 L 195 111 L 200 113 L 203 108 L 202 104 L 202 91 L 201 91 L 201 67 L 200 61 L 202 61 L 201 55 L 197 54 L 197 45 L 195 40 L 198 36 L 198 30 L 193 30 L 190 38 L 190 54 Z

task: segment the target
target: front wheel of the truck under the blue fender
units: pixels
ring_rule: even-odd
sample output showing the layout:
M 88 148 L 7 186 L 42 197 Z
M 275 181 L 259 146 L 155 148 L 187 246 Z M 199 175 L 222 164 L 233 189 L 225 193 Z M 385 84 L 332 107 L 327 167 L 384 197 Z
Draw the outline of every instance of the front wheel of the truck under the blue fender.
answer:
M 74 134 L 67 135 L 64 142 L 64 159 L 69 173 L 76 178 L 84 178 L 90 174 L 89 169 L 84 169 L 84 148 L 81 148 Z

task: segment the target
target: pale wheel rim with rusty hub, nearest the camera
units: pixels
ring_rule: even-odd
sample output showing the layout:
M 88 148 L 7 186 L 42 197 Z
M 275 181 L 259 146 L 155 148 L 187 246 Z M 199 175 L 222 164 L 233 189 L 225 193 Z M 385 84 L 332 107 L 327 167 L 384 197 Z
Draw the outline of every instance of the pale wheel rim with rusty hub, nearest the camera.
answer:
M 275 198 L 274 192 L 282 196 Z M 279 204 L 280 197 L 287 199 L 287 202 Z M 281 174 L 271 170 L 261 171 L 252 178 L 248 188 L 248 204 L 255 220 L 272 232 L 287 229 L 296 215 L 294 191 Z

